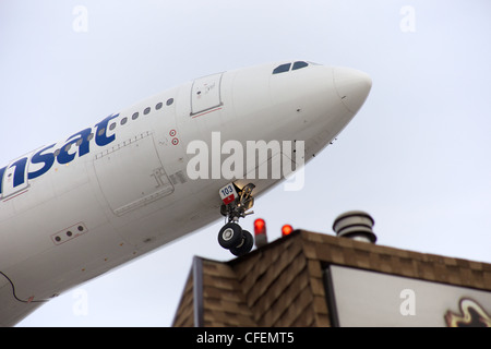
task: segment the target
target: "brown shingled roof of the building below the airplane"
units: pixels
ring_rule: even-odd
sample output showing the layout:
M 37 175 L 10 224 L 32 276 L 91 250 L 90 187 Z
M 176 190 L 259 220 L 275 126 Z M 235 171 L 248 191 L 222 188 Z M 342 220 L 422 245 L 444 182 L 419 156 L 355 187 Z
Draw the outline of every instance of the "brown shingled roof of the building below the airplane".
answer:
M 491 292 L 490 264 L 296 230 L 229 262 L 195 256 L 173 326 L 336 325 L 332 265 Z

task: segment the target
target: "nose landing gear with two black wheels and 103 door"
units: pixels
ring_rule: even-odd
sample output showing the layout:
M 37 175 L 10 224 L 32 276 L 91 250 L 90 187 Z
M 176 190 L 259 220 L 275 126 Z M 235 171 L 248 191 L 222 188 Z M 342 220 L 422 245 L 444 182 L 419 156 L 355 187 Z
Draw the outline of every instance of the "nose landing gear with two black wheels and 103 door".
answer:
M 251 195 L 254 188 L 254 184 L 249 183 L 242 190 L 239 190 L 233 183 L 230 183 L 219 191 L 224 202 L 220 206 L 220 213 L 227 217 L 228 222 L 218 232 L 218 243 L 237 256 L 249 253 L 254 244 L 252 234 L 242 230 L 238 225 L 239 218 L 254 213 L 249 212 L 254 205 L 254 197 Z

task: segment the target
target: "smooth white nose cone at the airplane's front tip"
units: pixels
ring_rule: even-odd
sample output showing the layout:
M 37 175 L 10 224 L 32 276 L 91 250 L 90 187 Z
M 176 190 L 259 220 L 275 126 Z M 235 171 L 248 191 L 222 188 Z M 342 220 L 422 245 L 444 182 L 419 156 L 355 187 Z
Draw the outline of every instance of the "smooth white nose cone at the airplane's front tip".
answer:
M 363 72 L 349 68 L 334 69 L 334 85 L 345 107 L 356 113 L 367 99 L 372 80 Z

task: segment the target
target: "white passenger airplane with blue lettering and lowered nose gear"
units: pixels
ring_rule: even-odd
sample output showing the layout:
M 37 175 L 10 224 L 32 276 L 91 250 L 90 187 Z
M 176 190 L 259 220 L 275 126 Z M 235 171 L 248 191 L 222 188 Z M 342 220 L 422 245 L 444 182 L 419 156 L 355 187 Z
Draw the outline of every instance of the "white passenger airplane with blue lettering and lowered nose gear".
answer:
M 216 132 L 224 144 L 244 147 L 248 141 L 302 141 L 307 163 L 350 122 L 371 86 L 358 70 L 303 60 L 226 71 L 1 167 L 0 326 L 14 326 L 61 292 L 220 216 L 227 222 L 219 244 L 248 253 L 252 237 L 238 220 L 254 197 L 285 179 L 249 174 L 295 159 L 270 151 L 261 164 L 246 164 L 241 178 L 191 179 L 188 163 L 197 152 L 188 145 L 213 146 Z

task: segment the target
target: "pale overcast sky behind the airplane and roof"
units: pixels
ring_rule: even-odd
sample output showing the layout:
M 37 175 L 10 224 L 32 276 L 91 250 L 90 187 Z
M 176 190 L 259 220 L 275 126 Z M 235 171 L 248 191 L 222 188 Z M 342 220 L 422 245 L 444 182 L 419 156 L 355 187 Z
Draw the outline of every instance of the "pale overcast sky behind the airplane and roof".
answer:
M 0 160 L 202 75 L 290 59 L 351 67 L 373 80 L 366 105 L 307 165 L 303 190 L 277 186 L 242 227 L 263 217 L 270 240 L 286 222 L 332 234 L 337 215 L 362 209 L 379 244 L 491 263 L 490 14 L 488 0 L 0 0 Z M 169 326 L 192 256 L 231 258 L 221 226 L 20 326 Z

